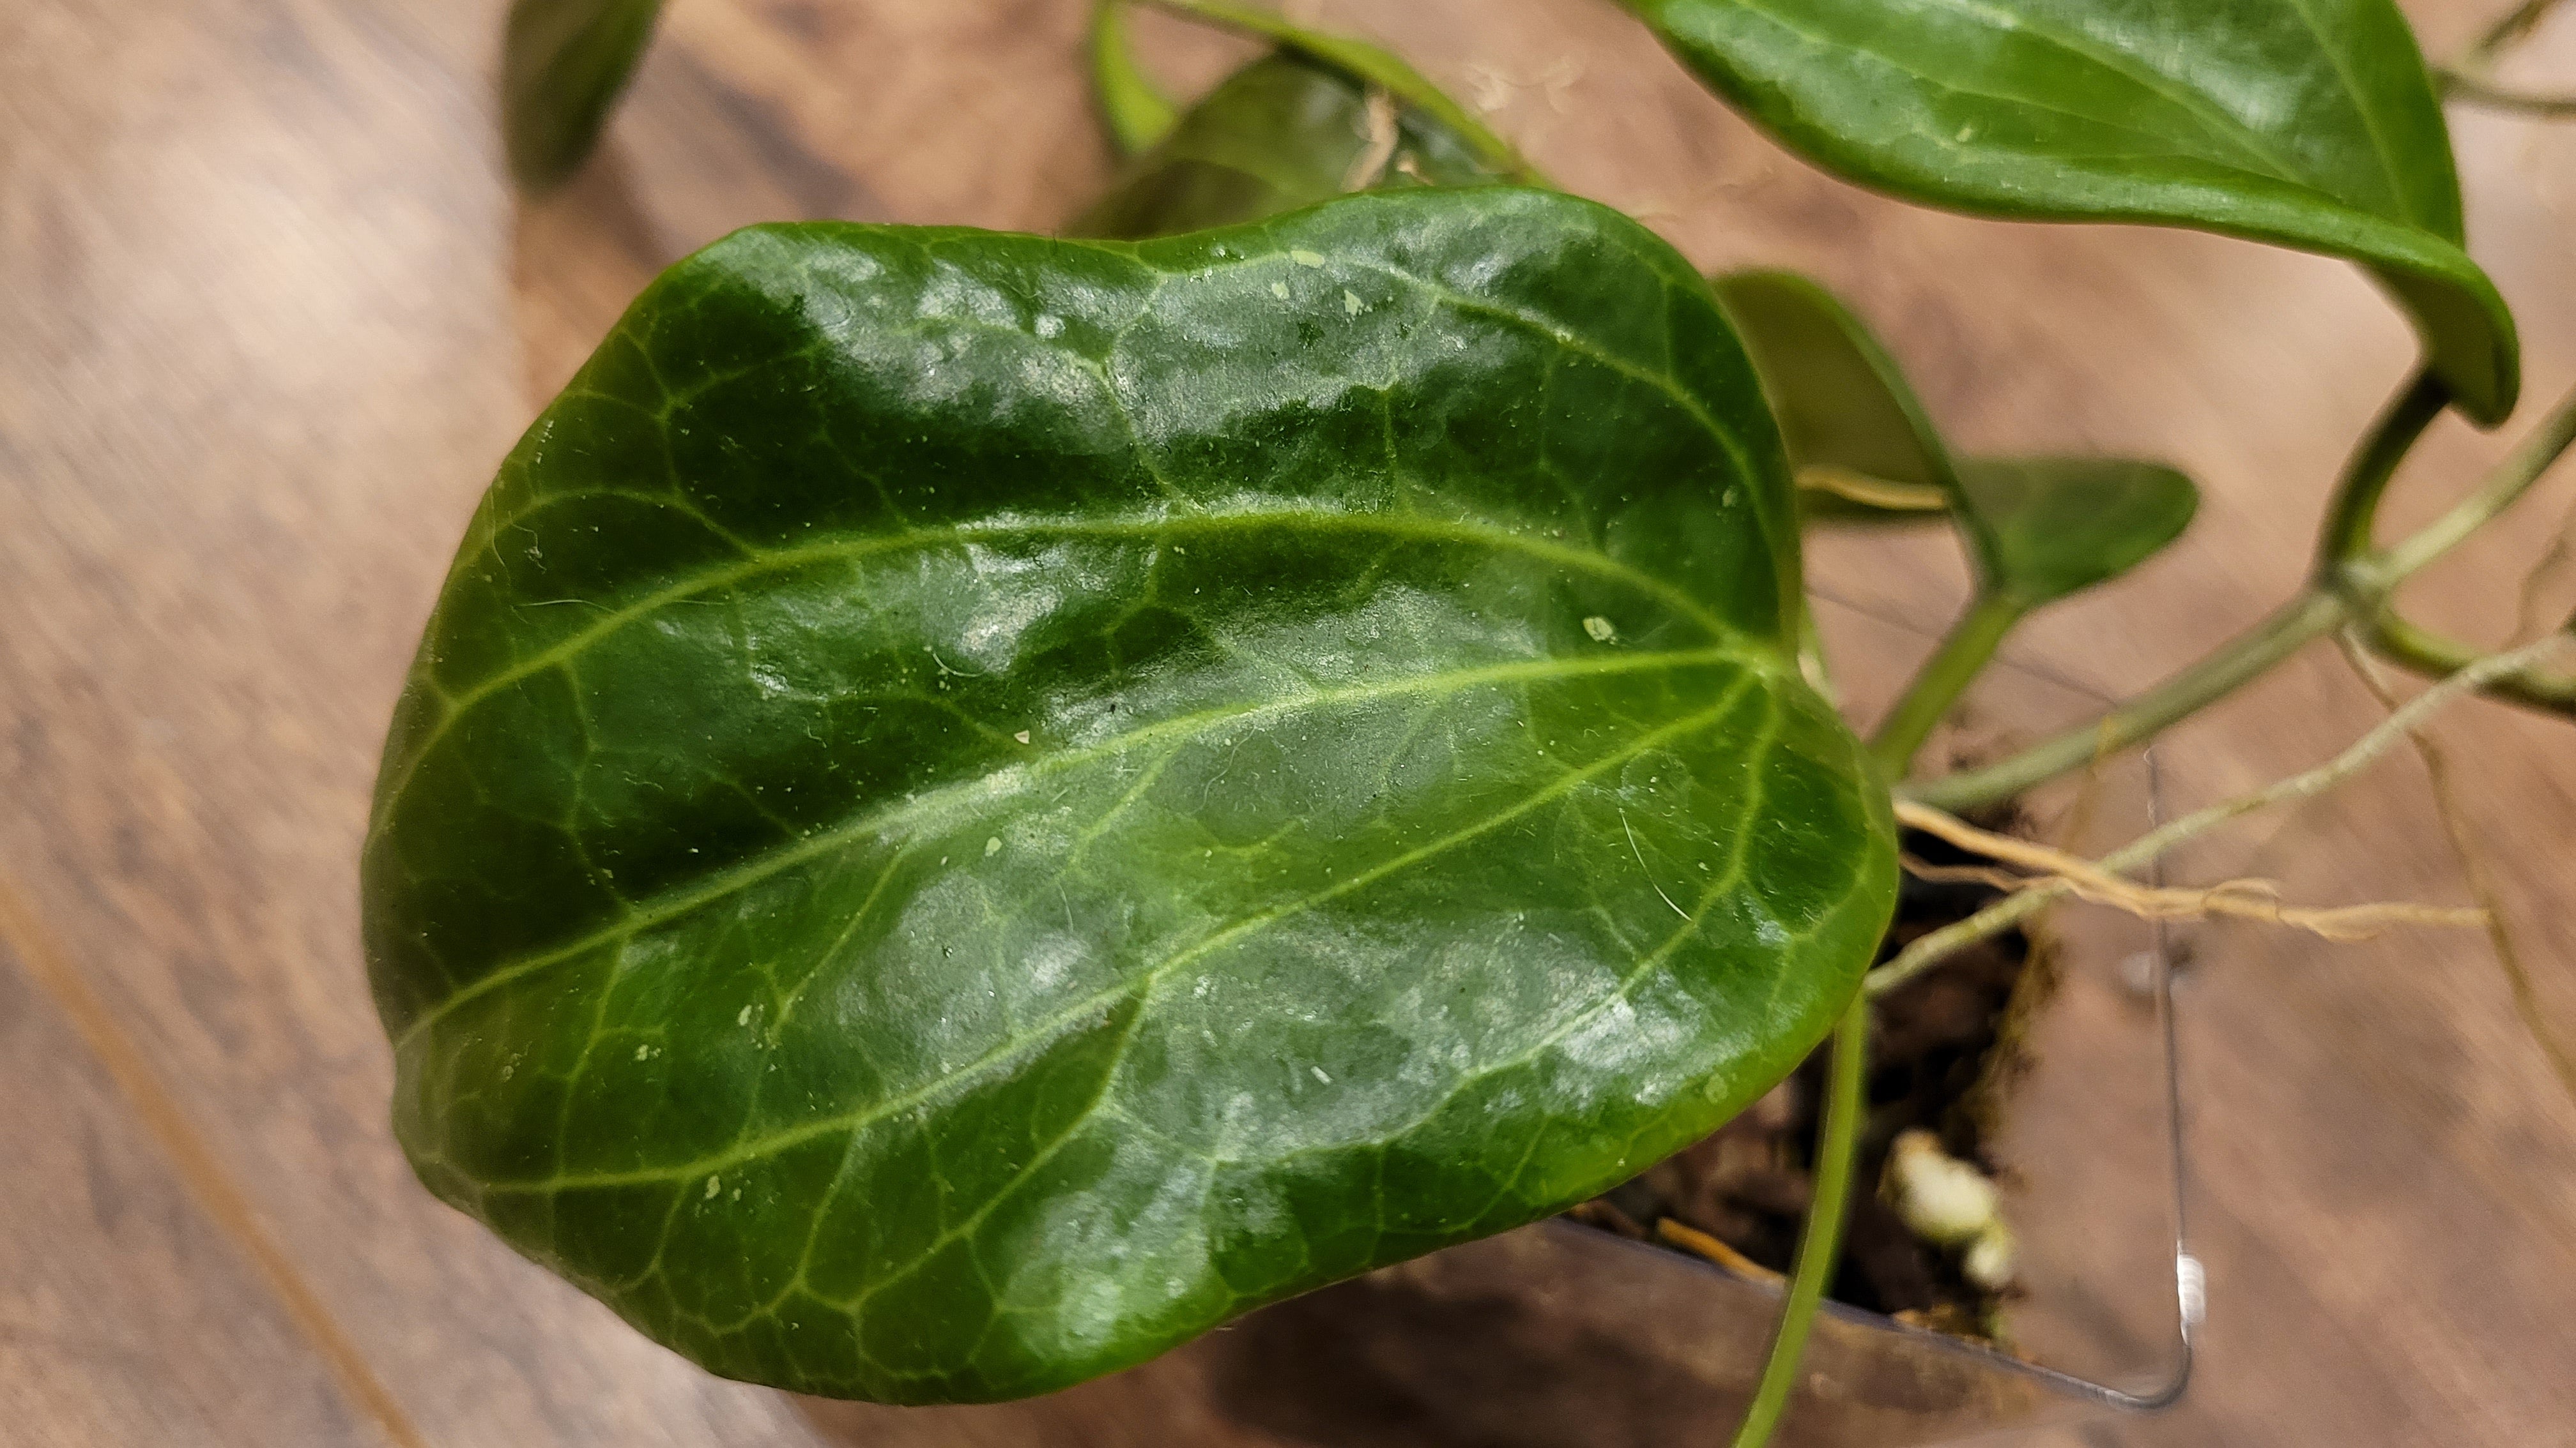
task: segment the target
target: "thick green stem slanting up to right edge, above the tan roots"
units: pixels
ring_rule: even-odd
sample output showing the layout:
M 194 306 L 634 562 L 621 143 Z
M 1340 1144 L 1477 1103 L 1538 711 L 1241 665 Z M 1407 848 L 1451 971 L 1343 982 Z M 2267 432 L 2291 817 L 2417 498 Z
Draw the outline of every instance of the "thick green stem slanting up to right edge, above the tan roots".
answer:
M 2388 417 L 2393 415 L 2398 415 L 2398 407 L 2391 407 Z M 2463 538 L 2512 508 L 2535 482 L 2540 482 L 2540 477 L 2553 461 L 2558 461 L 2561 453 L 2566 453 L 2571 443 L 2576 443 L 2576 392 L 2561 397 L 2550 415 L 2543 417 L 2540 428 L 2506 453 L 2506 459 L 2486 474 L 2476 492 L 2388 549 L 2344 562 L 2334 585 L 2311 582 L 2306 593 L 2285 603 L 2262 624 L 2228 639 L 2200 662 L 2120 703 L 2092 724 L 2079 724 L 2053 734 L 2020 755 L 2009 755 L 1986 768 L 1906 783 L 1896 791 L 1906 799 L 1919 799 L 1955 814 L 1960 809 L 2009 799 L 2040 781 L 2084 768 L 2105 755 L 2151 739 L 2169 724 L 2197 714 L 2218 698 L 2226 698 L 2233 688 L 2287 660 L 2303 644 L 2342 629 L 2362 611 L 2375 616 L 2398 582 L 2455 549 Z M 2367 456 L 2372 456 L 2370 446 L 2354 453 L 2354 464 Z M 2398 657 L 2396 662 L 2406 660 Z M 2512 698 L 2509 691 L 2499 693 Z

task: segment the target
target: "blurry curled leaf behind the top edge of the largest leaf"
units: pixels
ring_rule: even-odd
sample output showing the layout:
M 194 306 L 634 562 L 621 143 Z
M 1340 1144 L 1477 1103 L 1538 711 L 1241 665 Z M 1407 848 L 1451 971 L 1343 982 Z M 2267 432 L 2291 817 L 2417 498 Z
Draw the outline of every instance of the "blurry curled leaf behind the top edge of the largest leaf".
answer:
M 1126 46 L 1126 3 L 1103 0 L 1092 26 L 1092 85 L 1121 144 L 1146 142 L 1118 186 L 1069 232 L 1170 237 L 1260 222 L 1347 191 L 1489 186 L 1528 178 L 1520 157 L 1401 59 L 1260 10 L 1182 5 L 1255 28 L 1280 49 L 1226 77 L 1185 116 Z M 1162 103 L 1167 106 L 1167 103 Z

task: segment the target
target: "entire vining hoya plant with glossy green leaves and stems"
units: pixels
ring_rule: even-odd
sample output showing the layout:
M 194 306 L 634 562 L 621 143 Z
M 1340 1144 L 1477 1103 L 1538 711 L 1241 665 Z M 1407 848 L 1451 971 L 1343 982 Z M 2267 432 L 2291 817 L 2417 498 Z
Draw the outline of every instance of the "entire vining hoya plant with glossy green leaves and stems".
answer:
M 2179 536 L 2192 482 L 1958 456 L 1819 283 L 1703 278 L 1381 49 L 1162 5 L 1267 54 L 1182 108 L 1103 3 L 1131 160 L 1064 237 L 773 224 L 657 278 L 502 464 L 394 716 L 363 897 L 397 1136 L 706 1368 L 1061 1389 L 1595 1198 L 1832 1038 L 1759 1443 L 1855 1190 L 1870 997 L 2388 734 L 1873 969 L 1899 814 L 2027 866 L 1945 812 L 2329 634 L 2445 680 L 2401 721 L 2576 714 L 2545 649 L 2391 611 L 2576 407 L 2378 536 L 2416 435 L 2519 392 L 2388 0 L 1631 0 L 1837 175 L 2347 258 L 2421 338 L 2293 603 L 1935 778 L 1996 644 Z M 518 3 L 523 183 L 580 165 L 654 10 Z M 1976 577 L 1868 742 L 1801 585 L 1855 520 L 1947 520 Z

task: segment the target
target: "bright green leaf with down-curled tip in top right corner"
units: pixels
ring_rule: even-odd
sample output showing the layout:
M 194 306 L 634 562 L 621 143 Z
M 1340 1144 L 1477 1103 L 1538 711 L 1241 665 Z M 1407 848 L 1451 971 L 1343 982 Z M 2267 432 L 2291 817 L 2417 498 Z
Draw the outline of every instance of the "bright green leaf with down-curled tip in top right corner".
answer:
M 2352 258 L 2501 423 L 2514 319 L 2468 252 L 2450 134 L 2391 0 L 1625 0 L 1816 165 L 2043 222 Z

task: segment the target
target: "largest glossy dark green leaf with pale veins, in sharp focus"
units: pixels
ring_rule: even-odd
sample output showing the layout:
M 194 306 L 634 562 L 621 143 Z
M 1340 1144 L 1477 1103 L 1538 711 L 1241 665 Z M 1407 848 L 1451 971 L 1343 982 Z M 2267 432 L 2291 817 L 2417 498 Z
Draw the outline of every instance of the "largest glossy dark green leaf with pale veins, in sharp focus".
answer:
M 363 891 L 422 1180 L 708 1368 L 1136 1363 L 1698 1139 L 1857 989 L 1708 283 L 1517 188 L 757 227 L 502 464 Z

